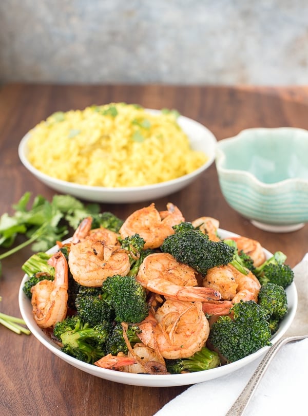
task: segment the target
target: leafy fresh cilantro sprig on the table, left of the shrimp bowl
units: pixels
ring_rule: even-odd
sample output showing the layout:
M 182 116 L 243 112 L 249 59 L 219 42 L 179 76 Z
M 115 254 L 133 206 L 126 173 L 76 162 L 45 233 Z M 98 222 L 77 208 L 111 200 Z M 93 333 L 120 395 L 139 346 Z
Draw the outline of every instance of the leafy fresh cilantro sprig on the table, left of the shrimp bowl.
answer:
M 55 195 L 51 202 L 38 195 L 28 208 L 30 198 L 31 193 L 26 192 L 12 205 L 13 215 L 0 217 L 0 247 L 9 249 L 0 254 L 0 260 L 30 244 L 34 252 L 47 251 L 68 234 L 69 228 L 76 229 L 83 218 L 100 211 L 98 204 L 85 205 L 70 195 Z M 18 235 L 24 235 L 25 241 L 13 247 Z

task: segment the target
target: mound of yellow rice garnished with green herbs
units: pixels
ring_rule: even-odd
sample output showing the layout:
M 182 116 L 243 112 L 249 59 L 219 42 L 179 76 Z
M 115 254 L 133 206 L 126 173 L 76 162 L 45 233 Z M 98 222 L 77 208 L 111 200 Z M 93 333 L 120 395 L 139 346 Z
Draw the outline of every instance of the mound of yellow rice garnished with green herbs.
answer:
M 175 179 L 206 162 L 175 111 L 152 115 L 125 103 L 56 112 L 31 130 L 29 162 L 64 181 L 127 187 Z

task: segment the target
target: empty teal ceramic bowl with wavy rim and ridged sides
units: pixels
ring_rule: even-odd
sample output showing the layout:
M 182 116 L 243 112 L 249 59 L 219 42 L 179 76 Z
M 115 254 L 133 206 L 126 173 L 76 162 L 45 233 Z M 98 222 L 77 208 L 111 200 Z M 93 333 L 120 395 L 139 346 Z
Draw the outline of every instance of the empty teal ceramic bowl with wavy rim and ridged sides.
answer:
M 290 232 L 308 221 L 307 130 L 243 130 L 217 142 L 216 167 L 227 203 L 259 228 Z

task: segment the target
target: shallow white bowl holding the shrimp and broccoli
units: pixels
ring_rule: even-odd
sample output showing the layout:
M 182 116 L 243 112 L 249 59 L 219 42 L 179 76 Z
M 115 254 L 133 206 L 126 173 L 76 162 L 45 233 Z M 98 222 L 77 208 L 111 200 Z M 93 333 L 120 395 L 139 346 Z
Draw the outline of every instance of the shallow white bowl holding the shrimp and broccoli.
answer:
M 237 234 L 230 233 L 225 230 L 218 230 L 221 238 L 228 238 L 231 236 L 236 236 Z M 68 241 L 68 240 L 67 240 Z M 54 253 L 57 250 L 53 248 L 49 250 L 48 253 Z M 268 257 L 272 256 L 270 252 L 265 250 L 265 254 Z M 60 357 L 61 360 L 72 365 L 73 367 L 79 368 L 86 373 L 100 377 L 101 379 L 129 384 L 134 386 L 147 386 L 147 387 L 171 387 L 171 386 L 182 386 L 189 384 L 201 383 L 207 380 L 216 379 L 223 375 L 232 373 L 239 368 L 244 367 L 245 365 L 253 362 L 256 358 L 264 354 L 269 347 L 263 347 L 254 354 L 248 355 L 242 360 L 236 361 L 231 364 L 227 364 L 222 367 L 214 368 L 206 371 L 198 371 L 194 373 L 187 374 L 160 374 L 160 375 L 150 375 L 150 374 L 130 374 L 120 371 L 108 370 L 105 368 L 100 368 L 91 364 L 83 363 L 82 361 L 76 360 L 60 350 L 60 348 L 54 344 L 51 339 L 36 325 L 33 316 L 32 316 L 32 307 L 29 298 L 23 292 L 23 287 L 28 276 L 25 275 L 20 286 L 18 293 L 18 302 L 21 310 L 23 319 L 25 320 L 27 327 L 30 329 L 32 334 L 40 341 L 46 348 L 48 348 L 53 354 Z M 288 327 L 290 327 L 297 308 L 297 292 L 295 283 L 293 282 L 286 289 L 287 302 L 288 302 L 288 312 L 280 323 L 278 331 L 275 333 L 272 343 L 276 343 L 278 339 L 286 332 Z M 44 351 L 42 350 L 42 355 Z

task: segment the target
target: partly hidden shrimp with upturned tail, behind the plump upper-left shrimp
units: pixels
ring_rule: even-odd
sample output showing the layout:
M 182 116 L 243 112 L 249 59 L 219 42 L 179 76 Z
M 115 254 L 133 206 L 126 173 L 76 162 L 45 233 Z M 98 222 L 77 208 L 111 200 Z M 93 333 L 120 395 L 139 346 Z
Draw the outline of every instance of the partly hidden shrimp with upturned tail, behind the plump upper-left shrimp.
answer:
M 74 232 L 71 242 L 75 244 L 85 239 L 92 239 L 103 241 L 105 244 L 120 245 L 118 239 L 120 234 L 103 227 L 91 230 L 91 225 L 92 217 L 84 218 Z

